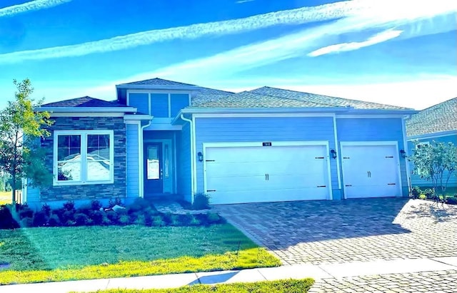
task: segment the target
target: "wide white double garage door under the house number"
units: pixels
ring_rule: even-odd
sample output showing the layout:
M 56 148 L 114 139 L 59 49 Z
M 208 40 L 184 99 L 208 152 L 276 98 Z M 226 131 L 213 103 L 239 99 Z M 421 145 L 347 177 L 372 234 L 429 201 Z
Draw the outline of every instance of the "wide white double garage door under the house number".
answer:
M 326 200 L 325 145 L 206 148 L 206 193 L 212 204 Z

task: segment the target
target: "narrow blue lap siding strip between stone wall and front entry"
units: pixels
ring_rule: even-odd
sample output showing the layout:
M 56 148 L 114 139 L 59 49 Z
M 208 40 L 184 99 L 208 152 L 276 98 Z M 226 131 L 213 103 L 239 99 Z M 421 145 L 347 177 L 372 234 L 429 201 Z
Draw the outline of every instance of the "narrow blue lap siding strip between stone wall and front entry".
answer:
M 127 195 L 139 196 L 139 125 L 126 125 Z

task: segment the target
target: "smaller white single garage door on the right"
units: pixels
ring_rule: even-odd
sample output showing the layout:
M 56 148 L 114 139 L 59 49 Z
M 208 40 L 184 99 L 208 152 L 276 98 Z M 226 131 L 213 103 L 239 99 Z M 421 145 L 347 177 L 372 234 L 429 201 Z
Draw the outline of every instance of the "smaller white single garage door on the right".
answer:
M 343 145 L 346 198 L 401 196 L 396 145 Z

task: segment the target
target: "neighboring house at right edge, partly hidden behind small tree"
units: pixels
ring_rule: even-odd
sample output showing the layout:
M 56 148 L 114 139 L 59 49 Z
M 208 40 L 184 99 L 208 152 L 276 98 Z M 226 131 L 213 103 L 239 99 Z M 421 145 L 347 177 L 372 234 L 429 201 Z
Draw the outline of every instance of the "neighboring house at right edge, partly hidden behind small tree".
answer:
M 436 142 L 453 143 L 457 145 L 457 98 L 439 103 L 421 110 L 406 121 L 408 135 L 408 150 L 413 152 L 416 145 Z M 423 180 L 420 175 L 413 174 L 411 163 L 411 185 L 431 187 L 431 181 Z M 419 170 L 420 173 L 420 170 Z M 457 175 L 453 173 L 448 187 L 457 187 Z

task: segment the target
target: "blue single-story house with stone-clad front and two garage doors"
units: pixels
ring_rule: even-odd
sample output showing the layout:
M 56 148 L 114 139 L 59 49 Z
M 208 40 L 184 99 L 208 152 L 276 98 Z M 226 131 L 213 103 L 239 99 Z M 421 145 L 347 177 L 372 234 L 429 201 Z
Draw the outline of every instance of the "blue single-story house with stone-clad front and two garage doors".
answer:
M 39 110 L 51 187 L 24 200 L 121 197 L 211 203 L 408 196 L 401 155 L 415 110 L 279 88 L 230 93 L 154 78 L 116 86 L 115 102 L 76 98 Z

